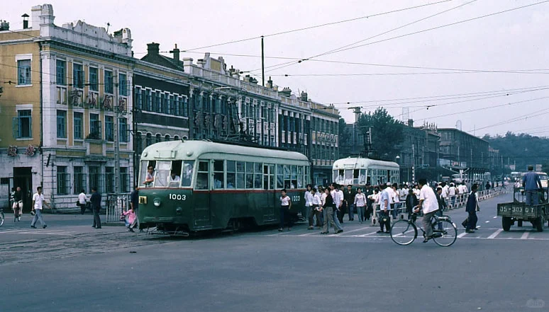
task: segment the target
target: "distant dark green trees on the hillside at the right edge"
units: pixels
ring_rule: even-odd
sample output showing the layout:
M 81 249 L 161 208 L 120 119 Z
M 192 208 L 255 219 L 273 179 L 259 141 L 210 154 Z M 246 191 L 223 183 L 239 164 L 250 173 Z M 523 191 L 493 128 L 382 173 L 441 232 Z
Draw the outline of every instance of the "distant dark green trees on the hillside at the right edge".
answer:
M 549 138 L 507 132 L 495 137 L 486 134 L 482 139 L 489 141 L 493 149 L 499 149 L 505 166 L 516 162 L 516 171 L 526 171 L 528 165 L 540 163 L 544 171 L 549 170 Z

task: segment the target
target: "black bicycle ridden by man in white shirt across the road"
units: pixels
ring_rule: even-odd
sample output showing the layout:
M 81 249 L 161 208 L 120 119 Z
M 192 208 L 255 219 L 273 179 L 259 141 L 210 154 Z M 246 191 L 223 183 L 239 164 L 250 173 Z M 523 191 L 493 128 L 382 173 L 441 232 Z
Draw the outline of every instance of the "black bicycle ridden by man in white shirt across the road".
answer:
M 391 226 L 391 239 L 399 245 L 409 245 L 418 237 L 418 226 L 416 218 L 418 212 L 411 214 L 408 220 L 399 220 Z M 457 227 L 451 221 L 449 216 L 433 216 L 431 218 L 431 227 L 433 228 L 433 241 L 439 246 L 448 247 L 455 243 L 457 239 Z M 421 226 L 419 229 L 425 237 L 425 230 Z

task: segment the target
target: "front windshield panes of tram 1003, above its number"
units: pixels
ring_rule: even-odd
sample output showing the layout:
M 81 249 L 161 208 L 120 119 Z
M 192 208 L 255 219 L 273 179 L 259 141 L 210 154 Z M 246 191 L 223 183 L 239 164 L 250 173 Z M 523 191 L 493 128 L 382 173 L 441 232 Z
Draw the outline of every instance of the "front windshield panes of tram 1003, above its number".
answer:
M 145 187 L 190 187 L 194 161 L 141 161 L 140 184 Z

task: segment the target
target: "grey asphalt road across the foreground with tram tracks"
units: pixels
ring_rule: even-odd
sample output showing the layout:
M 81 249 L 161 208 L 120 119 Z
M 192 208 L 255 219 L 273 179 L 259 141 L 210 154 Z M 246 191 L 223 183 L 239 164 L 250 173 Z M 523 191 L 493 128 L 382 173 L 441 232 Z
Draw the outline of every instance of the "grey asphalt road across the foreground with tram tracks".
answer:
M 0 311 L 543 311 L 549 229 L 501 232 L 496 204 L 510 198 L 481 202 L 476 233 L 450 212 L 449 248 L 396 245 L 357 221 L 330 236 L 301 224 L 193 239 L 95 230 L 91 216 L 7 223 Z

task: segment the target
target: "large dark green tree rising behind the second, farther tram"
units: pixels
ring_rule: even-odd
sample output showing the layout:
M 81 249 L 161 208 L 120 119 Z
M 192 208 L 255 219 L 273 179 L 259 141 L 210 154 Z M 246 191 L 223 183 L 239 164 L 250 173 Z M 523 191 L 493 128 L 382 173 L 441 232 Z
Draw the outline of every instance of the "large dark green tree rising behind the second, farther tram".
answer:
M 404 125 L 389 115 L 384 108 L 375 112 L 363 113 L 358 120 L 358 129 L 367 137 L 368 129 L 372 129 L 372 151 L 374 158 L 394 161 L 399 154 L 399 144 L 404 141 L 402 135 Z

